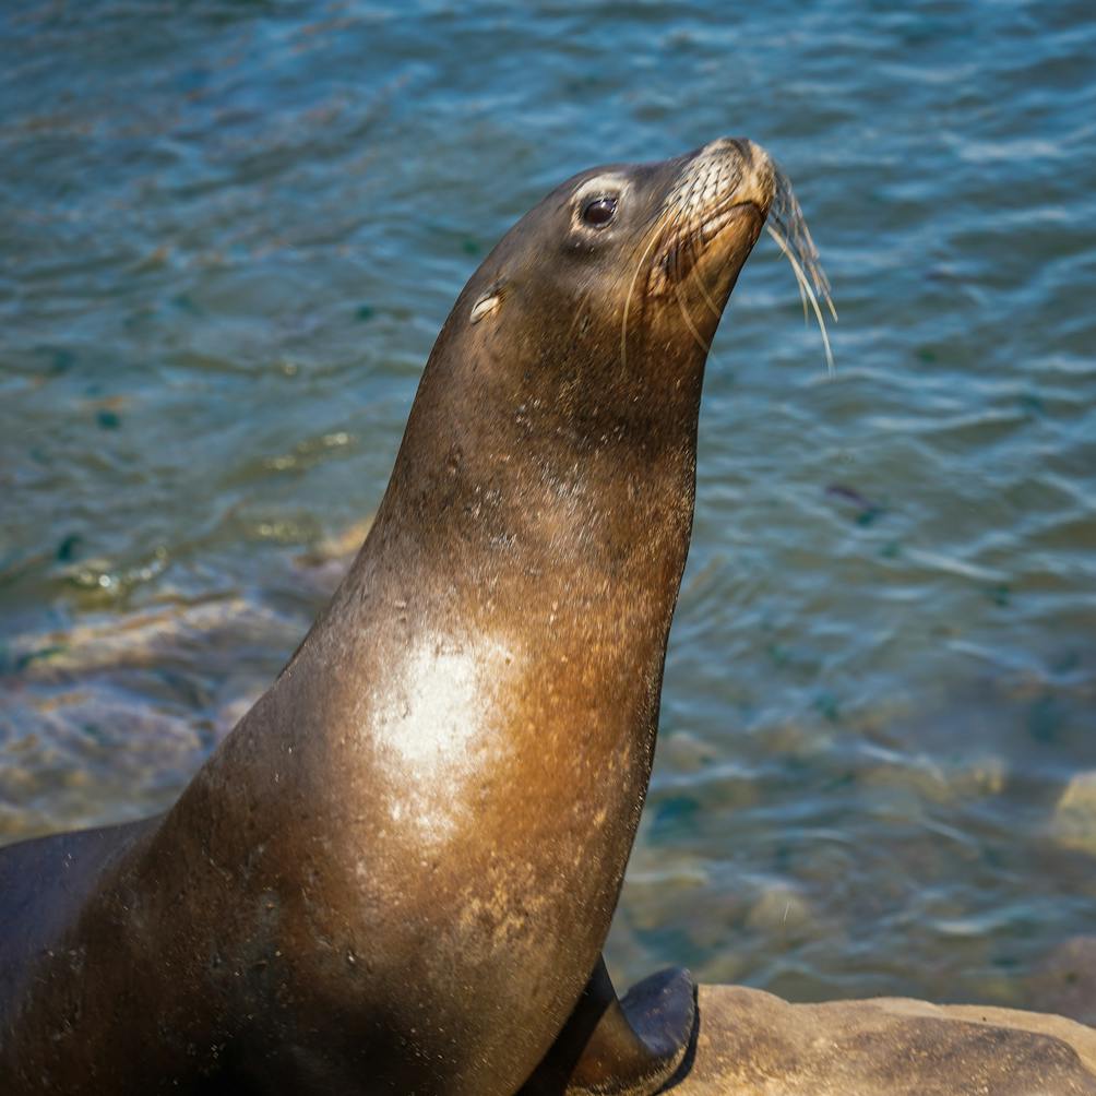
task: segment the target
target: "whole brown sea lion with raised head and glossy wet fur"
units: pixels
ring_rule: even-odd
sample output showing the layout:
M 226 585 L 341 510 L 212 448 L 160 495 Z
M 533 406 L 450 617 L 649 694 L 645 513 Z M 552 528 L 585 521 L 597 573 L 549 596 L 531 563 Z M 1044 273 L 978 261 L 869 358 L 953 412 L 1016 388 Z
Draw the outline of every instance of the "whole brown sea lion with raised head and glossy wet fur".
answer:
M 472 275 L 345 580 L 164 815 L 0 856 L 0 1091 L 649 1093 L 684 972 L 600 958 L 708 346 L 776 191 L 585 171 Z M 569 1018 L 570 1017 L 570 1018 Z

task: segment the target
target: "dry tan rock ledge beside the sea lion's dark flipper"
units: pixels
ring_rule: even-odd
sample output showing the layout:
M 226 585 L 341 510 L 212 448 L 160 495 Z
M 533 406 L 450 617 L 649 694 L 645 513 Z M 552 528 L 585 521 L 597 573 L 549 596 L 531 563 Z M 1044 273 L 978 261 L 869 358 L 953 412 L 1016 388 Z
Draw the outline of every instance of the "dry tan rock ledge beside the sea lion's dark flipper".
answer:
M 703 985 L 699 1014 L 673 1096 L 1096 1096 L 1096 1030 L 1061 1016 L 731 985 Z

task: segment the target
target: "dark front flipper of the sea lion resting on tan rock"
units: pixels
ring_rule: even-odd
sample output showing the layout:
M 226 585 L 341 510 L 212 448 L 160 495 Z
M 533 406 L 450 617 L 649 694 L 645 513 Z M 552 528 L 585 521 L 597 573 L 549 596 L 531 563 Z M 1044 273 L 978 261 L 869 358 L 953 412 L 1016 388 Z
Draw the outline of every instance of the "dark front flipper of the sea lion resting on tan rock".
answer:
M 687 970 L 659 971 L 617 1000 L 605 960 L 521 1096 L 649 1096 L 676 1072 L 696 1024 Z

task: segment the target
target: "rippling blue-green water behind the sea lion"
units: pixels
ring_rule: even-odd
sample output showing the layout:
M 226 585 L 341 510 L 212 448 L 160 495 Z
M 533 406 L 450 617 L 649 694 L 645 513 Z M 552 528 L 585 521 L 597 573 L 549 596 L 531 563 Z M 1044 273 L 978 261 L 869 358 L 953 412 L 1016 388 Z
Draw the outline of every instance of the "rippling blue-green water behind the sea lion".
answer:
M 1096 918 L 1087 4 L 27 2 L 0 42 L 0 841 L 171 802 L 520 214 L 740 134 L 837 375 L 763 241 L 612 966 L 1054 1005 Z

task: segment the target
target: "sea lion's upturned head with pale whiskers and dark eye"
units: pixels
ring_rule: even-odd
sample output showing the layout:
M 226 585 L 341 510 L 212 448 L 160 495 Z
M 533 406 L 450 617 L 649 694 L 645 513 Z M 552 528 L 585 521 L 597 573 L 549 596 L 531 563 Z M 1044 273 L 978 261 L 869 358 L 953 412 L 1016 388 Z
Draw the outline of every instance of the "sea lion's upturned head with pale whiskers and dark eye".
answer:
M 567 433 L 635 437 L 639 422 L 672 431 L 675 409 L 695 419 L 708 347 L 777 179 L 764 149 L 732 138 L 583 171 L 492 250 L 439 347 L 464 363 L 470 390 L 524 408 L 557 445 Z

